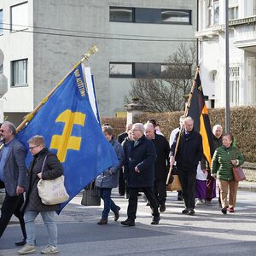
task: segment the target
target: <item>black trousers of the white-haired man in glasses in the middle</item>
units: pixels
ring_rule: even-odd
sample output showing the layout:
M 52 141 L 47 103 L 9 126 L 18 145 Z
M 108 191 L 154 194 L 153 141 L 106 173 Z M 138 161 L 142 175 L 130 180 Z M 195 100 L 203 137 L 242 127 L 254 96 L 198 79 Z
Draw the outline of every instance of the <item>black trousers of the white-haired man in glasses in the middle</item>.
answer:
M 148 188 L 131 188 L 129 187 L 129 204 L 127 209 L 127 216 L 132 221 L 136 219 L 136 212 L 137 212 L 137 193 L 139 191 L 143 191 L 143 193 L 147 196 L 148 201 L 150 203 L 150 208 L 152 210 L 152 216 L 159 217 L 160 213 L 158 211 L 158 202 L 154 195 L 154 189 L 152 187 Z

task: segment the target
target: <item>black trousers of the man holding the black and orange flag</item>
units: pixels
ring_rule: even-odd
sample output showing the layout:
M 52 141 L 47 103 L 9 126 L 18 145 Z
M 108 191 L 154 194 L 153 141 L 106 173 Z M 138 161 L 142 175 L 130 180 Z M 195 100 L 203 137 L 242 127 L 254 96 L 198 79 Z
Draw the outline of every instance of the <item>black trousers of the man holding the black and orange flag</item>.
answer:
M 180 183 L 183 189 L 183 200 L 185 202 L 186 208 L 195 208 L 195 170 L 187 170 L 178 167 L 177 175 L 179 177 Z

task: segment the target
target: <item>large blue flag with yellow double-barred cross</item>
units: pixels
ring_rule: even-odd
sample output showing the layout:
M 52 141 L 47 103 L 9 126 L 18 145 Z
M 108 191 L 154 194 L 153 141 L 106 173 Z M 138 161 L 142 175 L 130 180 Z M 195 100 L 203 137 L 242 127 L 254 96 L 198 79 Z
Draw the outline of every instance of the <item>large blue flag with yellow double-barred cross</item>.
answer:
M 29 138 L 44 137 L 46 146 L 57 154 L 64 167 L 69 201 L 98 174 L 118 162 L 91 109 L 82 72 L 79 65 L 17 136 L 27 149 Z M 31 160 L 28 153 L 27 164 Z M 67 202 L 61 204 L 58 213 Z

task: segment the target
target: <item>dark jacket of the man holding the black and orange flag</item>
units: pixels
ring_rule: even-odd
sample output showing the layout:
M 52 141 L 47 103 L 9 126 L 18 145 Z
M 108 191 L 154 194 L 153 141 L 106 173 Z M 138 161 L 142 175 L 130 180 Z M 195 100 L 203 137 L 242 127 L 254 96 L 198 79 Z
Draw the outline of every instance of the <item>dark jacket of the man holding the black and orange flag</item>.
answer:
M 171 147 L 171 155 L 174 154 L 177 136 Z M 203 154 L 201 134 L 194 129 L 189 132 L 186 137 L 185 131 L 181 132 L 180 141 L 177 147 L 175 160 L 177 161 L 177 169 L 185 169 L 187 171 L 196 171 L 199 161 Z

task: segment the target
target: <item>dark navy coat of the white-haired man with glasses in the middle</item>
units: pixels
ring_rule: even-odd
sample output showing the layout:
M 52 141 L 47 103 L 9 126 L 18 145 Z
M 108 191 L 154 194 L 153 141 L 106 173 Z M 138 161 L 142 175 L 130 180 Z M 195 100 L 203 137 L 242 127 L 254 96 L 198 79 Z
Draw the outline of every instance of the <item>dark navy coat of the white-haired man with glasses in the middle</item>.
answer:
M 156 151 L 154 143 L 145 136 L 138 140 L 134 147 L 133 141 L 127 141 L 125 148 L 125 173 L 127 185 L 131 188 L 147 188 L 154 185 L 154 162 Z M 135 172 L 135 167 L 140 172 Z

